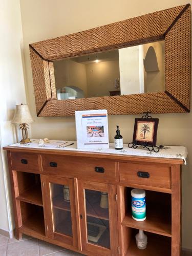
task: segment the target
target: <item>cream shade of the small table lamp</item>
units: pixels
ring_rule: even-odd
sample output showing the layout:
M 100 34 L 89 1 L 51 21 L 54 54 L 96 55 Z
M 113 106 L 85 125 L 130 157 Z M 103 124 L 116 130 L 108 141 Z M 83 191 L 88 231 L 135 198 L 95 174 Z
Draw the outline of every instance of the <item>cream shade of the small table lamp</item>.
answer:
M 12 123 L 32 123 L 33 118 L 29 111 L 28 105 L 16 105 L 15 114 Z

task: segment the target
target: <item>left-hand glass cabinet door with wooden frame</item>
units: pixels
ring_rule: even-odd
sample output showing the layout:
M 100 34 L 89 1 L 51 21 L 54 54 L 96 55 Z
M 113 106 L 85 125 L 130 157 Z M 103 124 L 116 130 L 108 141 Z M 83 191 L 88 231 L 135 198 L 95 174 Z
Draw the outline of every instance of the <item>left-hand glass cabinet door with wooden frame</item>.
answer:
M 48 236 L 70 245 L 77 246 L 76 214 L 73 179 L 45 178 L 49 198 Z

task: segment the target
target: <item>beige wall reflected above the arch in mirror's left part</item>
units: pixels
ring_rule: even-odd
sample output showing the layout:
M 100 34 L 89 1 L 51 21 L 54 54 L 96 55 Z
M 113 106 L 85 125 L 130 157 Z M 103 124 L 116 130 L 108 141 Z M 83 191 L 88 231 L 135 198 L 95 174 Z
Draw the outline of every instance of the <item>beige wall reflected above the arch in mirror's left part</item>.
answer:
M 75 86 L 87 95 L 86 66 L 73 60 L 54 61 L 56 90 L 65 86 Z

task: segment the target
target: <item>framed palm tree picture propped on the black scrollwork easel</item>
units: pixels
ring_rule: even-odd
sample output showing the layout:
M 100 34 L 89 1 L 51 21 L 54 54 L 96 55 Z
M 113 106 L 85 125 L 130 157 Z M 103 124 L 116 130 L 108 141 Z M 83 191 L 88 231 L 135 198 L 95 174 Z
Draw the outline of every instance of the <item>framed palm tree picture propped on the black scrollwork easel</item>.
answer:
M 156 146 L 158 118 L 136 118 L 133 143 L 143 146 Z

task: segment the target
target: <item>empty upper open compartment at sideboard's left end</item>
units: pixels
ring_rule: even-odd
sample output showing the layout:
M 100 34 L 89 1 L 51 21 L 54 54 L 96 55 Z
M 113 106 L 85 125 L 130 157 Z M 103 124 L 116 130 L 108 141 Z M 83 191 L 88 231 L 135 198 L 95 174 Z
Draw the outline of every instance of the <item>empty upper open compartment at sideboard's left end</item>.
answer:
M 16 199 L 42 206 L 40 175 L 17 172 L 19 195 Z

